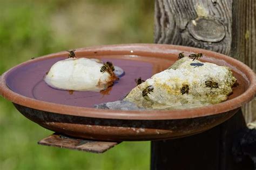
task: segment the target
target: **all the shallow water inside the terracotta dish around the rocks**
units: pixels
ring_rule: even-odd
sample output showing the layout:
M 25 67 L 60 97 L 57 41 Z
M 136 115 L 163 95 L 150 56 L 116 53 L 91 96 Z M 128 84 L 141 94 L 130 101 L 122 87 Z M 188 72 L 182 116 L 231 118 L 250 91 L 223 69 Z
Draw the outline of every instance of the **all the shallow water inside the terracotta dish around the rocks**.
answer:
M 158 57 L 143 57 L 134 55 L 101 55 L 83 56 L 98 58 L 103 62 L 110 61 L 115 66 L 124 70 L 124 74 L 110 88 L 103 92 L 90 91 L 63 91 L 49 87 L 43 80 L 50 67 L 66 57 L 46 58 L 35 60 L 31 63 L 15 67 L 6 76 L 6 85 L 14 92 L 22 96 L 47 101 L 50 103 L 64 104 L 80 107 L 93 107 L 95 104 L 116 101 L 124 98 L 135 86 L 134 79 L 150 78 L 153 74 L 167 69 L 176 62 L 176 58 L 163 59 Z M 238 79 L 238 86 L 233 89 L 233 94 L 228 99 L 235 98 L 246 91 L 245 79 L 238 73 L 233 72 Z

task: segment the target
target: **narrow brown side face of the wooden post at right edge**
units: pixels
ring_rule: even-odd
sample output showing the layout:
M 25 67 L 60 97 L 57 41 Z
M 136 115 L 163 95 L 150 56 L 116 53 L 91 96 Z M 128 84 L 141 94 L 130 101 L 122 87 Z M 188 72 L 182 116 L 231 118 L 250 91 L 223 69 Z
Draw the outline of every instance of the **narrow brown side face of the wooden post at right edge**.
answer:
M 233 1 L 231 56 L 256 72 L 256 1 Z M 256 99 L 242 107 L 247 123 L 256 121 Z

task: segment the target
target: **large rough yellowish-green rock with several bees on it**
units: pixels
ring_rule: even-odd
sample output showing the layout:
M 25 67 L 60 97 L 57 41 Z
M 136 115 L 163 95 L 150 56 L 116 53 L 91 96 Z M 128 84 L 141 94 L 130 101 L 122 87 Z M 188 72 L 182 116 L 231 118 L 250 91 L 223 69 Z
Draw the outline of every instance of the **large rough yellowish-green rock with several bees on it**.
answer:
M 228 67 L 184 57 L 132 89 L 123 100 L 145 109 L 207 106 L 227 100 L 236 81 Z

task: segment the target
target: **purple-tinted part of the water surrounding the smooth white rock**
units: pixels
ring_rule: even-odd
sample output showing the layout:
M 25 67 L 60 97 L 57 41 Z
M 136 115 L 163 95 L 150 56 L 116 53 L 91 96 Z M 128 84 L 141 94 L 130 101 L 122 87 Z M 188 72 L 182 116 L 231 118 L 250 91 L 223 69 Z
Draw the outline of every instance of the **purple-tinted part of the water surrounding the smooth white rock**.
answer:
M 37 100 L 48 101 L 51 103 L 93 107 L 95 104 L 110 102 L 123 98 L 128 92 L 136 86 L 134 79 L 142 77 L 150 78 L 153 74 L 151 63 L 138 60 L 102 58 L 104 62 L 111 61 L 114 65 L 121 67 L 125 75 L 121 77 L 112 87 L 109 95 L 100 92 L 82 92 L 75 91 L 72 94 L 69 91 L 56 90 L 49 87 L 43 80 L 45 73 L 50 67 L 64 57 L 50 58 L 41 61 L 35 61 L 30 64 L 16 67 L 6 78 L 6 85 L 14 92 L 23 96 Z M 101 58 L 99 58 L 101 59 Z M 63 68 L 65 69 L 65 68 Z

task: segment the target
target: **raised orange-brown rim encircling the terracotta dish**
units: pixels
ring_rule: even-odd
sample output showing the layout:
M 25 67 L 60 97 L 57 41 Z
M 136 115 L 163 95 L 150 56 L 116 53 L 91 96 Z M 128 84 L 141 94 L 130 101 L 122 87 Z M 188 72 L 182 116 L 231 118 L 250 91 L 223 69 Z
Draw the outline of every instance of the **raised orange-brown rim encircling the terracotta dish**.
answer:
M 10 100 L 12 103 L 16 103 L 25 107 L 30 107 L 35 110 L 41 110 L 45 112 L 52 112 L 58 114 L 66 115 L 75 115 L 79 117 L 91 117 L 91 118 L 105 118 L 105 119 L 128 119 L 128 120 L 171 120 L 171 119 L 187 119 L 187 118 L 197 118 L 204 117 L 207 115 L 225 113 L 236 108 L 241 107 L 243 104 L 248 103 L 252 100 L 256 93 L 256 76 L 255 73 L 245 65 L 244 63 L 239 62 L 238 60 L 222 55 L 217 52 L 198 49 L 194 47 L 179 46 L 179 45 L 166 45 L 166 44 L 119 44 L 119 45 L 104 45 L 104 46 L 94 46 L 94 47 L 85 47 L 77 49 L 76 53 L 86 52 L 87 54 L 103 55 L 146 55 L 146 56 L 155 56 L 160 55 L 162 58 L 166 58 L 172 52 L 201 52 L 206 55 L 207 62 L 222 62 L 221 65 L 230 66 L 233 70 L 237 71 L 244 77 L 249 86 L 248 89 L 242 93 L 240 96 L 224 101 L 223 103 L 191 108 L 191 109 L 182 109 L 182 110 L 152 110 L 152 111 L 122 111 L 122 110 L 102 110 L 97 108 L 87 108 L 87 107 L 77 107 L 69 106 L 62 104 L 49 103 L 46 101 L 36 100 L 22 96 L 21 94 L 15 93 L 6 86 L 5 79 L 8 74 L 14 70 L 16 67 L 21 67 L 25 64 L 32 63 L 39 60 L 44 60 L 47 58 L 60 57 L 67 55 L 66 51 L 53 53 L 43 57 L 39 57 L 33 60 L 29 60 L 22 64 L 19 64 L 12 69 L 6 71 L 0 77 L 0 94 Z

